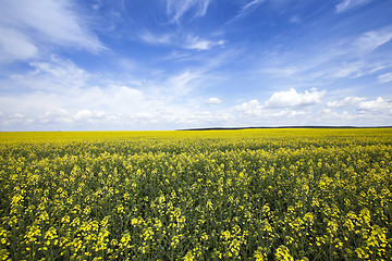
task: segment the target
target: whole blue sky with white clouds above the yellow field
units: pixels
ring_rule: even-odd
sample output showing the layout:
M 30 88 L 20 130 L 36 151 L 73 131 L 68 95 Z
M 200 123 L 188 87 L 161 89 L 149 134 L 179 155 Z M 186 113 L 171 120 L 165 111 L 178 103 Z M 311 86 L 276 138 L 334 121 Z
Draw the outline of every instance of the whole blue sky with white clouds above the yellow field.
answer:
M 0 130 L 392 125 L 392 1 L 0 7 Z

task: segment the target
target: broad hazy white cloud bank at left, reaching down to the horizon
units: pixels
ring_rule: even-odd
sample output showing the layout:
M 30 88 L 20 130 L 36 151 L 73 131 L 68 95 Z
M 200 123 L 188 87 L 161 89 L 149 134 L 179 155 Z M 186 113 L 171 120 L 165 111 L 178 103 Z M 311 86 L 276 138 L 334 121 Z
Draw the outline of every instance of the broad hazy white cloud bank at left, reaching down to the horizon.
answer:
M 197 71 L 114 80 L 57 58 L 34 62 L 32 67 L 0 82 L 2 88 L 12 84 L 24 89 L 0 96 L 0 129 L 162 129 L 199 113 L 200 100 L 189 94 L 208 80 Z M 199 119 L 218 117 L 211 113 Z

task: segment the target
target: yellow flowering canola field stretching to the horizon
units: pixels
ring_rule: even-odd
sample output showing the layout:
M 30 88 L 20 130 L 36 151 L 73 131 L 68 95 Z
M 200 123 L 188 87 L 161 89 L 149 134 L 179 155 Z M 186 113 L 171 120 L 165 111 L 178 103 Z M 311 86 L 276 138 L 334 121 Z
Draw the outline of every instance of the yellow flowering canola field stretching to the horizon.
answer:
M 392 260 L 392 128 L 0 133 L 0 260 Z

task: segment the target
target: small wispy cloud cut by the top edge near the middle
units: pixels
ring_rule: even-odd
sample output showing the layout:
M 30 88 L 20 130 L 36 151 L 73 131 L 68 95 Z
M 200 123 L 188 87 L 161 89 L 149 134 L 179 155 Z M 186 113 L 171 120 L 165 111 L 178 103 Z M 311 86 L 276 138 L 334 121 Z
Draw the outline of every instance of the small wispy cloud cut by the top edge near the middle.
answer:
M 167 13 L 171 22 L 180 23 L 181 17 L 193 11 L 193 17 L 204 16 L 207 12 L 210 0 L 168 0 Z

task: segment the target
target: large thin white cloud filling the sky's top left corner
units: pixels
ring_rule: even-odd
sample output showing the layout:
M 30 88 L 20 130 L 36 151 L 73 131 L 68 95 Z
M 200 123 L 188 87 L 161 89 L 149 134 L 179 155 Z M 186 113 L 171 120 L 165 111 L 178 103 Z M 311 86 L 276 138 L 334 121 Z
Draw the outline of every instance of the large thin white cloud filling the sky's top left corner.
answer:
M 26 60 L 42 45 L 71 46 L 91 52 L 106 49 L 69 1 L 1 1 L 0 61 Z M 13 48 L 10 48 L 13 47 Z M 5 57 L 5 58 L 4 58 Z

